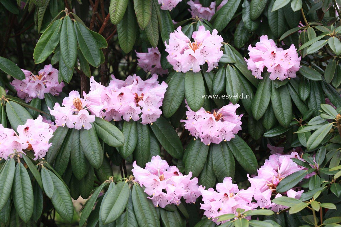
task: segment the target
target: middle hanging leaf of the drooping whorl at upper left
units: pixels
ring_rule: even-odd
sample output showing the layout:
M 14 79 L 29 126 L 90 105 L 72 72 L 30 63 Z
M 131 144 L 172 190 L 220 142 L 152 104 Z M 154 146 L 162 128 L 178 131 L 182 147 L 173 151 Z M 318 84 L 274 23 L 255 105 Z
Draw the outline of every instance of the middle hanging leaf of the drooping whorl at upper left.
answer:
M 65 65 L 69 69 L 73 69 L 77 58 L 77 39 L 75 29 L 68 15 L 64 17 L 60 30 L 60 52 Z

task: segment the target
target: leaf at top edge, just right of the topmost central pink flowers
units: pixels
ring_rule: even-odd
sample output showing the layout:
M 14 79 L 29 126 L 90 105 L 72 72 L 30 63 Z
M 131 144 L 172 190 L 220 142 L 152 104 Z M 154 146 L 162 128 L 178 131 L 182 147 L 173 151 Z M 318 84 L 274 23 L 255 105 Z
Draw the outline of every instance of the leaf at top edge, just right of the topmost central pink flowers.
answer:
M 232 17 L 237 11 L 240 0 L 230 0 L 217 12 L 217 17 L 214 20 L 213 27 L 222 31 L 227 24 L 231 21 Z

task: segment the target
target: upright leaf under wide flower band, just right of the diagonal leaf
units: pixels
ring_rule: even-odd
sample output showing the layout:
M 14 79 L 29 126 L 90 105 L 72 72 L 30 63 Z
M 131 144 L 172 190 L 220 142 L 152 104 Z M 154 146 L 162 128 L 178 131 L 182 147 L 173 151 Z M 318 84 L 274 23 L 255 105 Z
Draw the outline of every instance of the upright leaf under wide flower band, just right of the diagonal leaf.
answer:
M 137 144 L 137 124 L 136 121 L 124 121 L 123 129 L 124 145 L 119 147 L 122 158 L 127 159 L 134 151 Z

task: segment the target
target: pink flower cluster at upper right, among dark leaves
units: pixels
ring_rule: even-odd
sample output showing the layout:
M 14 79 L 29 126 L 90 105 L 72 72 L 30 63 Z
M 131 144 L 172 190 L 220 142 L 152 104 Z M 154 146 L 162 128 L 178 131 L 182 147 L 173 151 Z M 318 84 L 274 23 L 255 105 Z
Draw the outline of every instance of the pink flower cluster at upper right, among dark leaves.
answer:
M 250 59 L 245 61 L 255 78 L 263 79 L 261 74 L 264 67 L 270 72 L 271 80 L 296 77 L 301 57 L 298 57 L 294 44 L 289 49 L 283 50 L 277 47 L 272 39 L 268 39 L 267 35 L 262 35 L 260 42 L 256 43 L 255 47 L 250 45 L 248 49 Z

